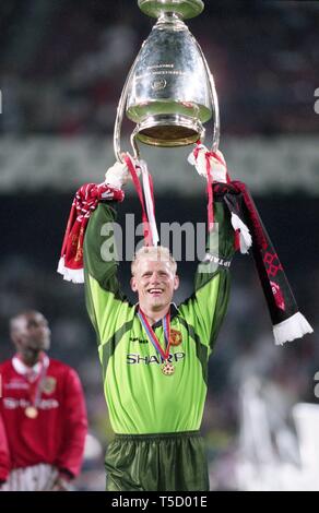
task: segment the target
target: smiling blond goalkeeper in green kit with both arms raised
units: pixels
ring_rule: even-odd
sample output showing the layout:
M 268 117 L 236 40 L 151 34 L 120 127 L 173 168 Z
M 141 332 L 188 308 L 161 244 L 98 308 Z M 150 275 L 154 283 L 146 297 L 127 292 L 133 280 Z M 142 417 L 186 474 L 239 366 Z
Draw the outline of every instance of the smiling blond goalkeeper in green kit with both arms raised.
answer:
M 128 170 L 117 164 L 106 183 L 119 189 Z M 86 306 L 97 334 L 104 392 L 115 440 L 105 465 L 109 491 L 206 491 L 208 463 L 200 437 L 208 391 L 208 362 L 229 295 L 234 230 L 223 196 L 215 194 L 214 220 L 194 291 L 176 307 L 177 265 L 163 247 L 140 249 L 131 288 L 122 295 L 118 263 L 106 226 L 116 220 L 116 200 L 103 200 L 84 238 Z M 113 237 L 113 235 L 110 235 Z M 105 244 L 105 246 L 104 246 Z

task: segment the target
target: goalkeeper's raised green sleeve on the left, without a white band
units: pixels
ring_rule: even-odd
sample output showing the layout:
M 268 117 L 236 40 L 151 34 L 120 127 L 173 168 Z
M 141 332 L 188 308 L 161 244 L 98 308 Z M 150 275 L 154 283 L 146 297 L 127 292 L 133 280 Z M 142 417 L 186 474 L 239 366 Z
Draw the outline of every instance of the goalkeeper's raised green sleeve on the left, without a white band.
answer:
M 117 278 L 114 203 L 99 203 L 84 237 L 85 300 L 90 319 L 101 344 L 118 330 L 129 309 Z

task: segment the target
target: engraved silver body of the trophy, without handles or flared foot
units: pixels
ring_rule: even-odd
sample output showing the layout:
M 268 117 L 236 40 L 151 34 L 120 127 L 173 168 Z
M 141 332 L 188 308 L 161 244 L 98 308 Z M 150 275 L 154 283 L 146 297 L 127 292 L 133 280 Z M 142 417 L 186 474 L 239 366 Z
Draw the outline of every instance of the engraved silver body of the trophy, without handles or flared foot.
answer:
M 208 73 L 196 39 L 176 13 L 161 14 L 142 46 L 126 114 L 144 144 L 184 146 L 202 136 L 202 123 L 212 117 Z

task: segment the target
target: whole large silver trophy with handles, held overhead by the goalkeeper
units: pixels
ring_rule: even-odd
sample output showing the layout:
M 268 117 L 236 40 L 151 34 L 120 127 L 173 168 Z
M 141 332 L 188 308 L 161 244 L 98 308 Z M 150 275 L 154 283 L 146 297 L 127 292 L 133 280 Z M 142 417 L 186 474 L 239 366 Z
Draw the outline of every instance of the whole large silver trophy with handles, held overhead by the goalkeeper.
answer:
M 201 47 L 184 23 L 200 14 L 202 0 L 138 0 L 147 15 L 158 17 L 129 72 L 117 109 L 114 148 L 121 160 L 125 112 L 135 123 L 138 141 L 176 147 L 203 141 L 203 123 L 213 118 L 213 151 L 218 147 L 220 112 L 213 76 Z

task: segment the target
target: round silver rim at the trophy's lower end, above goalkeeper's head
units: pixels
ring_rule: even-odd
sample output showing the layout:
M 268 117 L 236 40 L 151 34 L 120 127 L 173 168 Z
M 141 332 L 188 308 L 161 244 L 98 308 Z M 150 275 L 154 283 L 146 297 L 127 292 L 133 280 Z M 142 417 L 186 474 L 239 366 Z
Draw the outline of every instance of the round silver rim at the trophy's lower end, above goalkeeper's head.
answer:
M 204 135 L 200 121 L 186 116 L 154 116 L 137 126 L 133 136 L 150 146 L 177 147 L 194 144 Z

